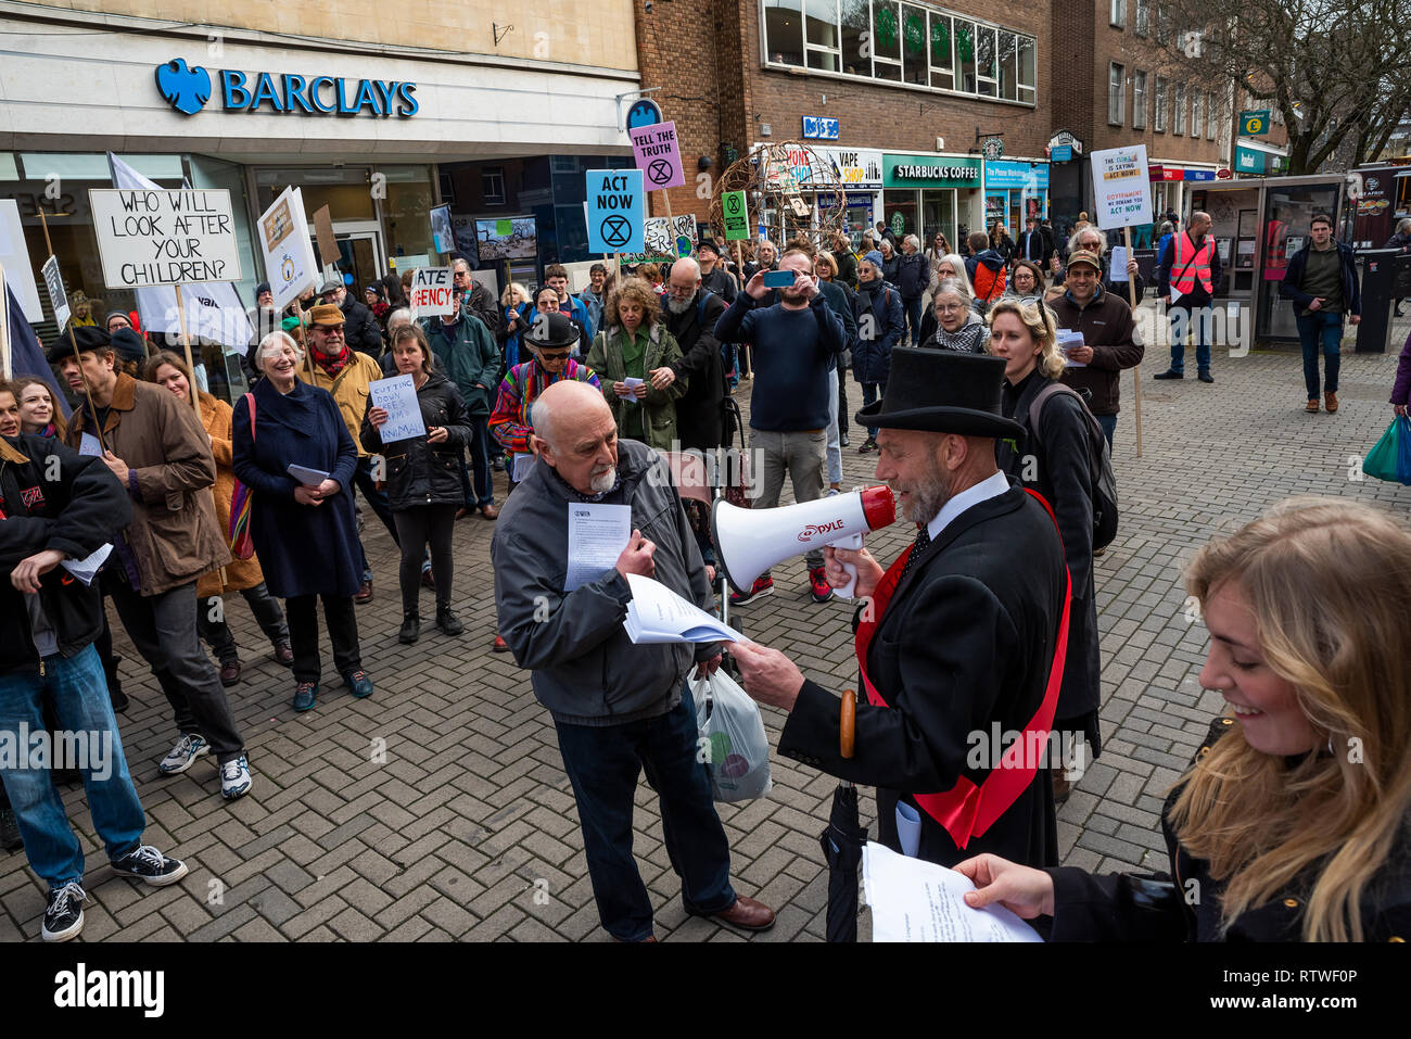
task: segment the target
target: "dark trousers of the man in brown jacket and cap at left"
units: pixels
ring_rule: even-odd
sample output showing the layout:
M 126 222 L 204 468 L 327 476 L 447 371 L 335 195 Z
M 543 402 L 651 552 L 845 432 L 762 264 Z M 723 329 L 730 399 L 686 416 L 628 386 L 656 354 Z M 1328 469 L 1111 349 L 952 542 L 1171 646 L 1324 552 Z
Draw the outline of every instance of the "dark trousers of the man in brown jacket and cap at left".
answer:
M 176 728 L 203 735 L 222 765 L 238 758 L 244 745 L 230 702 L 196 634 L 196 582 L 143 596 L 114 580 L 110 591 L 127 637 L 166 693 Z

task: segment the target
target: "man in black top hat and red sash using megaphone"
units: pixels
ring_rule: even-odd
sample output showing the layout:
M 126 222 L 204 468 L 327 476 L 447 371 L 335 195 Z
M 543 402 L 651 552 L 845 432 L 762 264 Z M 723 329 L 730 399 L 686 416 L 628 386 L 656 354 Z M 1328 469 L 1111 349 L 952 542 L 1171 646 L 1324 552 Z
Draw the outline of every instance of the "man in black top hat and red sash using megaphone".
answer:
M 745 690 L 789 713 L 779 752 L 876 786 L 882 843 L 943 865 L 983 851 L 1058 861 L 1047 730 L 1067 576 L 1051 515 L 995 464 L 995 442 L 1022 435 L 1000 415 L 1003 377 L 998 357 L 897 347 L 882 400 L 858 412 L 879 426 L 876 476 L 917 532 L 885 572 L 865 549 L 827 552 L 834 587 L 841 563 L 858 569 L 852 757 L 847 697 L 782 652 L 731 647 Z M 1017 759 L 1000 758 L 1010 743 Z

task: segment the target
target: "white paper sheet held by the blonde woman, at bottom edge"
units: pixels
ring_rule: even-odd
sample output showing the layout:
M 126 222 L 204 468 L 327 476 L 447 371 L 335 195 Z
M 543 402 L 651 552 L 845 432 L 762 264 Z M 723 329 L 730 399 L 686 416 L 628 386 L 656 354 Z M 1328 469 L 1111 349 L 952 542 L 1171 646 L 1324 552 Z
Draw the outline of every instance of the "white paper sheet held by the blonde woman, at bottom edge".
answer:
M 862 848 L 862 884 L 873 942 L 1043 942 L 1000 905 L 965 905 L 975 885 L 964 875 L 876 841 Z

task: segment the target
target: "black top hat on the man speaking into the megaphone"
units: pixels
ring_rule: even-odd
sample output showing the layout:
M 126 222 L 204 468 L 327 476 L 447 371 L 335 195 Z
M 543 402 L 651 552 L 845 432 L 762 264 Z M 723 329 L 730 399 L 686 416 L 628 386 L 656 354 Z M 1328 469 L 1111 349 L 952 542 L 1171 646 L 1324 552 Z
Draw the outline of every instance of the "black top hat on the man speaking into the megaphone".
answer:
M 897 346 L 882 400 L 856 414 L 858 425 L 1022 438 L 1024 428 L 1000 414 L 1003 381 L 1003 357 Z

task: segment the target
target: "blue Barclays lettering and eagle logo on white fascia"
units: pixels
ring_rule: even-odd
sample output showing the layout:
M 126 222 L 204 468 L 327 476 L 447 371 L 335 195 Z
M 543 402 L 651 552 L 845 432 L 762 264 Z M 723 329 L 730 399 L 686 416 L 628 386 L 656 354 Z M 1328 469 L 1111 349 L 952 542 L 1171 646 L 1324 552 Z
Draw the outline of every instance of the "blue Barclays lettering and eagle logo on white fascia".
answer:
M 216 76 L 220 103 L 226 112 L 409 119 L 420 107 L 416 103 L 416 83 L 398 80 L 309 78 L 292 72 L 247 75 L 237 69 L 219 69 Z M 182 58 L 172 58 L 157 66 L 158 92 L 182 114 L 195 116 L 206 107 L 213 86 L 206 69 L 200 65 L 188 66 Z

